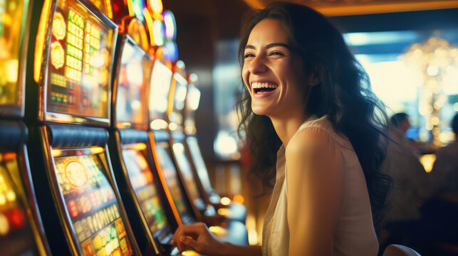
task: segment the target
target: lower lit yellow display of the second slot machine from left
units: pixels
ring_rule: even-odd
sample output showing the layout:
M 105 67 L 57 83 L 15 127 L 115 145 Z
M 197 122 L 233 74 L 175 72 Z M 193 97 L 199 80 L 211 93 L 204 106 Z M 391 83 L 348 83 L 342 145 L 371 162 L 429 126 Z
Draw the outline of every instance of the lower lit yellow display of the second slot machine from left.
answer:
M 120 206 L 98 156 L 54 160 L 63 203 L 83 255 L 132 255 Z

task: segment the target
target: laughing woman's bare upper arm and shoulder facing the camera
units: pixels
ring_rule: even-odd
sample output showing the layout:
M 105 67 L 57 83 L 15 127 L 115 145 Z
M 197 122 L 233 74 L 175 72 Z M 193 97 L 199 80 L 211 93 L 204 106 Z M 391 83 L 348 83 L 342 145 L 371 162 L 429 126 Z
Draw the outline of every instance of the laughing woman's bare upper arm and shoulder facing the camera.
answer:
M 304 129 L 286 148 L 289 255 L 330 255 L 343 205 L 345 170 L 335 141 Z

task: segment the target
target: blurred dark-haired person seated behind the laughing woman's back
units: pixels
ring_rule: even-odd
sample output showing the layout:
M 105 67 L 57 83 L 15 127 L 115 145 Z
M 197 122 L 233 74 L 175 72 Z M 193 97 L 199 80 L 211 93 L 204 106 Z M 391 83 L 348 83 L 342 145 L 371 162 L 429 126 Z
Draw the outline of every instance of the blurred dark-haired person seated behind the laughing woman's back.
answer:
M 415 142 L 405 136 L 410 127 L 408 115 L 397 113 L 390 118 L 391 129 L 383 169 L 392 176 L 393 188 L 387 198 L 386 225 L 380 235 L 382 248 L 390 244 L 415 248 L 421 220 L 420 206 L 430 197 L 428 174 L 420 163 Z

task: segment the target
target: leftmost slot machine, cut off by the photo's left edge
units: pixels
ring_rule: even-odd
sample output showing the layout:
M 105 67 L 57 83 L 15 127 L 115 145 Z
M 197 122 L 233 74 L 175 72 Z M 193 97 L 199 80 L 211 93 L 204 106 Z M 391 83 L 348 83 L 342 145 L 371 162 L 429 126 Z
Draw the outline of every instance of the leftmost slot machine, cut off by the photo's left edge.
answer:
M 0 248 L 1 255 L 48 255 L 36 203 L 24 124 L 31 2 L 0 7 Z

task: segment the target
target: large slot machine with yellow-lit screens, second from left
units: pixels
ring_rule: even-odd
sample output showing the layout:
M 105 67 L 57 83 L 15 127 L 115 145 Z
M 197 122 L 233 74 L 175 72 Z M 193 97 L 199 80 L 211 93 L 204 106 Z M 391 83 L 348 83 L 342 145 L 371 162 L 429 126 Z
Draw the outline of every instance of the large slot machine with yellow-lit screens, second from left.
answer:
M 26 91 L 36 97 L 26 102 L 26 120 L 33 184 L 51 252 L 141 255 L 108 152 L 118 26 L 86 0 L 37 6 L 42 11 L 33 19 L 39 23 Z

